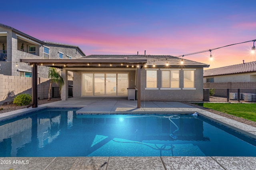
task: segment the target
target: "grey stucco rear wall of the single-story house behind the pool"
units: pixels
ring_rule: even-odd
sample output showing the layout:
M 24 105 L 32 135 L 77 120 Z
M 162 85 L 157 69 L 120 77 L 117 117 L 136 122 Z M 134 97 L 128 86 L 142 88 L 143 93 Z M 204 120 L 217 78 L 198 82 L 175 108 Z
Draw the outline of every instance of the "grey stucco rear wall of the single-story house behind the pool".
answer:
M 194 68 L 191 68 L 194 69 Z M 183 69 L 180 70 L 180 90 L 160 90 L 161 70 L 159 69 L 157 87 L 158 90 L 146 90 L 146 70 L 141 70 L 141 100 L 170 100 L 170 101 L 202 101 L 203 100 L 203 68 L 194 70 L 194 90 L 184 90 Z M 76 70 L 73 71 L 73 96 L 81 97 L 81 78 L 83 72 L 129 72 L 129 88 L 134 88 L 135 70 Z

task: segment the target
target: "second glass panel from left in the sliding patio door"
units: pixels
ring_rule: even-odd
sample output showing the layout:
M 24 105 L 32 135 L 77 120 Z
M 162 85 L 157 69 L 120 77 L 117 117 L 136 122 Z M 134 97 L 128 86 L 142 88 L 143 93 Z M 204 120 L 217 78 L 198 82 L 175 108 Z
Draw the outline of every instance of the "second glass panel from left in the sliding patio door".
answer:
M 105 96 L 105 74 L 94 74 L 94 96 Z

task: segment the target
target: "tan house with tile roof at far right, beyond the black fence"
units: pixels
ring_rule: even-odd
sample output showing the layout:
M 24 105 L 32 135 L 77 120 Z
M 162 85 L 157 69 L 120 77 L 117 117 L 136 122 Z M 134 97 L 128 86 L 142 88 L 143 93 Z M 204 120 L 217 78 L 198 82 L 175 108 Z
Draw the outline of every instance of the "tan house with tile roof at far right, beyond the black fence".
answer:
M 204 70 L 204 88 L 256 89 L 256 61 Z

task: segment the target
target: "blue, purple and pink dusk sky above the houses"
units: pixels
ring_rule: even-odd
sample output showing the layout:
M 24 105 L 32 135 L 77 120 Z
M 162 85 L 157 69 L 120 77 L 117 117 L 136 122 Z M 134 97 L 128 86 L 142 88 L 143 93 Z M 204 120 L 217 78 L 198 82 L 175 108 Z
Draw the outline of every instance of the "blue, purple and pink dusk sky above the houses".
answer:
M 0 23 L 88 55 L 180 56 L 256 39 L 255 0 L 42 0 L 1 2 Z M 255 43 L 256 45 L 256 43 Z M 210 68 L 256 61 L 253 42 L 184 59 Z

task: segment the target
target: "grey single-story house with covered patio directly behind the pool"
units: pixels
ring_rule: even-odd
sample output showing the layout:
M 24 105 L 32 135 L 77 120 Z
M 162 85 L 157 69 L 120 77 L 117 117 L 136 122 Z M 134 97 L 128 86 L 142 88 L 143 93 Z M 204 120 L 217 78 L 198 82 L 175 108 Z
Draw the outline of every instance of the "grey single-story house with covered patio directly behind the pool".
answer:
M 74 75 L 74 97 L 126 97 L 138 89 L 138 100 L 202 101 L 203 68 L 208 64 L 161 55 L 90 55 L 75 60 L 22 60 L 62 68 Z M 66 83 L 65 83 L 66 84 Z M 36 86 L 36 84 L 34 84 Z M 62 88 L 67 100 L 68 88 Z

